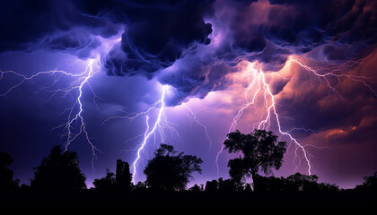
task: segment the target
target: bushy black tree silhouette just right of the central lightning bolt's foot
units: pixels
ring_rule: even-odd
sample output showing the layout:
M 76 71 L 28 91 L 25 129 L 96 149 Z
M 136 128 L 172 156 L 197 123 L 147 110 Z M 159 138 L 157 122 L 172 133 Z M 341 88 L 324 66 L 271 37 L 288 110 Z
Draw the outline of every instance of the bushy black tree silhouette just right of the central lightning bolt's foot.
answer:
M 201 173 L 202 159 L 193 155 L 177 154 L 173 146 L 161 144 L 155 150 L 153 159 L 148 161 L 144 173 L 146 185 L 153 190 L 181 191 L 185 189 L 192 178 L 193 172 Z

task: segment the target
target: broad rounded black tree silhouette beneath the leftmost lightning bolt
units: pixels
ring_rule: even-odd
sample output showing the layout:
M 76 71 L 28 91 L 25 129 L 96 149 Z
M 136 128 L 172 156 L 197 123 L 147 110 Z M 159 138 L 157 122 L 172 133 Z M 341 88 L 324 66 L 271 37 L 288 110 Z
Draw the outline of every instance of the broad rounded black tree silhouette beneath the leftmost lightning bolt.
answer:
M 86 178 L 79 168 L 76 153 L 63 151 L 60 146 L 53 147 L 48 157 L 34 169 L 31 188 L 37 191 L 66 193 L 86 188 Z

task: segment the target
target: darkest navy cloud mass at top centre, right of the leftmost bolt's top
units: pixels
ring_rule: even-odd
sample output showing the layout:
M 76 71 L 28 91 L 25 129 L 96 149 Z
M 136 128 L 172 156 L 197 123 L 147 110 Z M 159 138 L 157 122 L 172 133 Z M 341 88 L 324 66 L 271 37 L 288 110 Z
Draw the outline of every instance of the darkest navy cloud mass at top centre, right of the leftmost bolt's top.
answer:
M 114 22 L 127 25 L 121 46 L 115 47 L 105 57 L 104 67 L 109 74 L 140 73 L 150 78 L 153 73 L 174 64 L 188 49 L 210 42 L 208 35 L 212 32 L 212 26 L 204 22 L 204 16 L 212 13 L 211 1 L 99 3 L 95 8 L 80 7 L 91 15 L 107 16 Z M 108 9 L 115 7 L 118 9 Z M 119 51 L 124 52 L 124 57 L 118 56 Z

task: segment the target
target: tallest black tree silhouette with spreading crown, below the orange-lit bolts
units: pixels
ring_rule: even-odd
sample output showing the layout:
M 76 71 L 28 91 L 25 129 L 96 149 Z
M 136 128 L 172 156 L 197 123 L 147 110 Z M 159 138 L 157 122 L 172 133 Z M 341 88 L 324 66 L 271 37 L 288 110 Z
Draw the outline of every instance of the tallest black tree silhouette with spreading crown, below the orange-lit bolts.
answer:
M 225 149 L 230 153 L 243 154 L 242 157 L 228 162 L 229 175 L 233 181 L 241 184 L 245 176 L 251 176 L 256 189 L 259 168 L 268 174 L 270 168 L 279 169 L 282 166 L 286 142 L 277 142 L 277 136 L 273 132 L 256 129 L 250 134 L 244 134 L 237 130 L 227 136 L 224 141 Z

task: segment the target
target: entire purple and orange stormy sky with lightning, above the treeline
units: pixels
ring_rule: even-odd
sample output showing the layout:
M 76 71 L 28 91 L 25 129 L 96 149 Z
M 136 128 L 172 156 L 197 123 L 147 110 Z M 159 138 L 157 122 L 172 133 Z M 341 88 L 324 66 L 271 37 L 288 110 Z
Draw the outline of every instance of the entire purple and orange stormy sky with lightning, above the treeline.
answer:
M 256 128 L 288 143 L 274 176 L 377 171 L 377 1 L 13 0 L 0 29 L 0 150 L 22 183 L 55 145 L 88 186 L 117 159 L 144 181 L 164 142 L 204 184 L 229 177 L 226 134 Z

